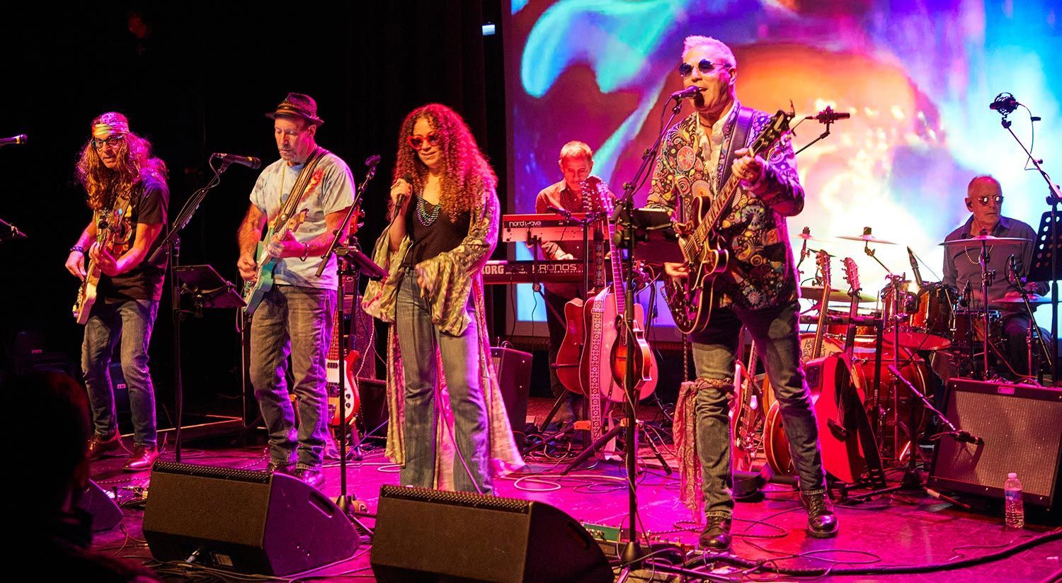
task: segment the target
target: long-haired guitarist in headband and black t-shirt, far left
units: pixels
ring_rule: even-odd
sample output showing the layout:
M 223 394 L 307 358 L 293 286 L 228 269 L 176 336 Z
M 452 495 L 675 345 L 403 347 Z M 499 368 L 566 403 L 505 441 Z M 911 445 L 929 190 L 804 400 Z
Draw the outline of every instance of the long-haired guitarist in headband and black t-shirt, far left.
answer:
M 92 220 L 70 247 L 66 268 L 82 279 L 73 315 L 85 324 L 81 366 L 95 427 L 88 456 L 97 459 L 121 446 L 109 375 L 120 338 L 133 414 L 133 455 L 125 469 L 150 469 L 158 450 L 148 344 L 162 295 L 166 256 L 160 254 L 155 263 L 148 257 L 166 227 L 166 165 L 152 157 L 148 140 L 130 131 L 125 116 L 108 112 L 92 120 L 76 172 Z

